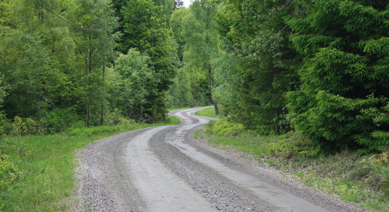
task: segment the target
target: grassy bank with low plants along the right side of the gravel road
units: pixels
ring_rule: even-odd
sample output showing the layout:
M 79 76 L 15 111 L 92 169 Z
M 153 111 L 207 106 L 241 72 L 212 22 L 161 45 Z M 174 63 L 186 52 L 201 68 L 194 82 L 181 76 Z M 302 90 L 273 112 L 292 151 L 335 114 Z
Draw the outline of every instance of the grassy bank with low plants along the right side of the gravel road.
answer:
M 295 132 L 260 136 L 239 124 L 213 121 L 196 134 L 212 146 L 247 153 L 261 164 L 294 176 L 302 184 L 376 211 L 389 211 L 386 154 L 344 150 L 326 155 Z

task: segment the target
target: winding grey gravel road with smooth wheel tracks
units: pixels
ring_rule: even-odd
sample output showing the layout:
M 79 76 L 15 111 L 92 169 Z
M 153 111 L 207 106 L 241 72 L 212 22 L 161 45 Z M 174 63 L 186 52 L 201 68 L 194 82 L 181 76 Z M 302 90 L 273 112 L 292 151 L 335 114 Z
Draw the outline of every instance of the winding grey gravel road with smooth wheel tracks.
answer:
M 363 211 L 307 189 L 244 154 L 194 140 L 202 110 L 171 112 L 181 125 L 145 128 L 80 149 L 81 211 Z

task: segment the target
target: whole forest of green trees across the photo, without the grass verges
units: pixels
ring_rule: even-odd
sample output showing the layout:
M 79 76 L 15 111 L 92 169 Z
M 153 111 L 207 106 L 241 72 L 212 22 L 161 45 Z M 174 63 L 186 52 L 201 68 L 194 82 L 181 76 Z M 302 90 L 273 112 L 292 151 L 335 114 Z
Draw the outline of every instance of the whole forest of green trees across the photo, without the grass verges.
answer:
M 1 0 L 0 134 L 215 106 L 323 151 L 389 144 L 389 2 Z

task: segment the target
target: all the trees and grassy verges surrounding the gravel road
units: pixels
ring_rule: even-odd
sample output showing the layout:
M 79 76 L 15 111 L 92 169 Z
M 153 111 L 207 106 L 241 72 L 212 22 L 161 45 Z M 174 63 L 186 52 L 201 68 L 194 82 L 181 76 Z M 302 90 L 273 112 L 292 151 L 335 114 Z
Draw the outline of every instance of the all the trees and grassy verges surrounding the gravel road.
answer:
M 206 105 L 195 139 L 389 210 L 389 0 L 0 0 L 0 211 L 75 211 L 79 149 Z

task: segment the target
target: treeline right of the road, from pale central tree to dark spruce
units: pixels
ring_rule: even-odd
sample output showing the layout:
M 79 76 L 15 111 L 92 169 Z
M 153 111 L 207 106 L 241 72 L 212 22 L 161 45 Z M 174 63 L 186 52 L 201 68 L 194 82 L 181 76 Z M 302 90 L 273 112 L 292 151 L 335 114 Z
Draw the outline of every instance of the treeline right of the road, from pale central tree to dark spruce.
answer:
M 248 129 L 295 130 L 325 150 L 388 150 L 388 4 L 194 1 L 172 16 L 182 20 L 174 36 L 186 42 L 175 95 L 190 102 L 194 95 L 185 86 L 190 81 L 193 93 L 193 81 L 201 80 L 191 74 L 199 73 L 198 79 L 214 78 L 210 88 L 221 113 Z M 197 17 L 198 11 L 212 18 Z

